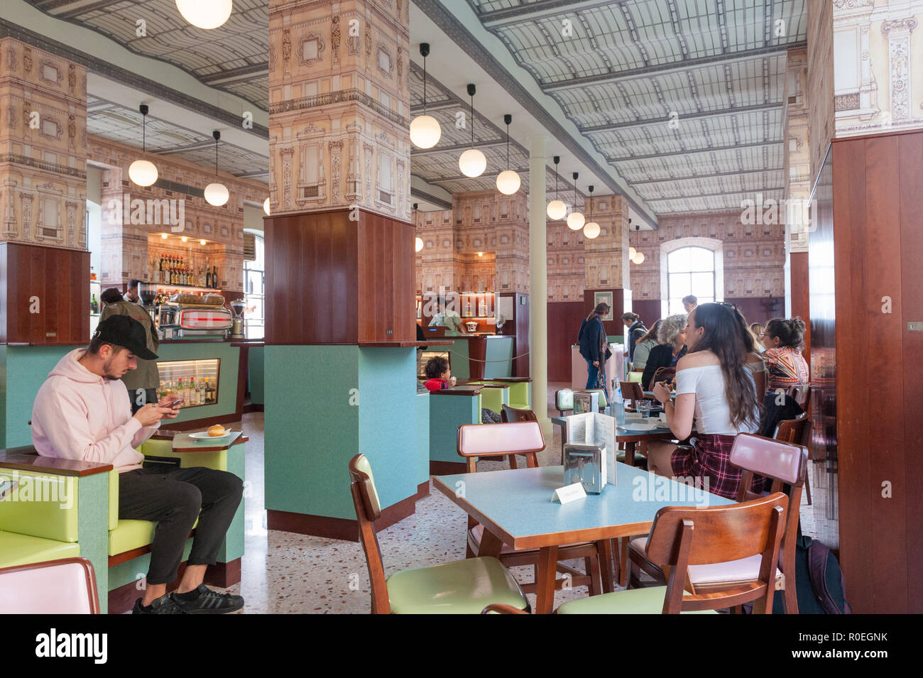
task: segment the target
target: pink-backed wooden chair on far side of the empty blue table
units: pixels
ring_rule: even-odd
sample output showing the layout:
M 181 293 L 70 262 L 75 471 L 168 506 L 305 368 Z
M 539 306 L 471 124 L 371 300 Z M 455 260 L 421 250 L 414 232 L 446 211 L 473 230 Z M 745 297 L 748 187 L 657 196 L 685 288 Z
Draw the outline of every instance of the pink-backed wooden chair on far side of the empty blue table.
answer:
M 458 453 L 465 458 L 469 473 L 477 472 L 478 458 L 509 458 L 510 468 L 516 469 L 515 456 L 517 454 L 524 454 L 527 468 L 534 469 L 538 467 L 535 453 L 543 449 L 545 449 L 545 437 L 541 426 L 536 421 L 465 423 L 459 426 Z M 466 558 L 473 558 L 480 551 L 483 538 L 484 526 L 469 516 Z M 538 549 L 516 551 L 504 544 L 500 552 L 500 562 L 507 567 L 531 565 L 534 572 L 538 565 L 538 554 Z M 585 572 L 563 565 L 561 562 L 575 558 L 583 558 L 586 566 Z M 557 550 L 557 559 L 557 571 L 571 577 L 570 586 L 586 586 L 590 589 L 590 595 L 601 592 L 601 580 L 603 591 L 611 591 L 614 588 L 610 567 L 612 556 L 608 540 L 561 546 Z M 566 579 L 557 579 L 555 588 L 562 589 L 567 583 Z M 522 589 L 526 593 L 534 593 L 534 581 L 523 584 Z

